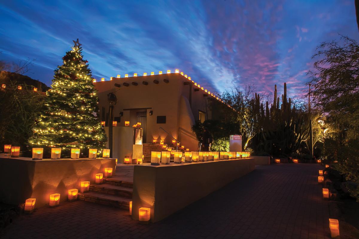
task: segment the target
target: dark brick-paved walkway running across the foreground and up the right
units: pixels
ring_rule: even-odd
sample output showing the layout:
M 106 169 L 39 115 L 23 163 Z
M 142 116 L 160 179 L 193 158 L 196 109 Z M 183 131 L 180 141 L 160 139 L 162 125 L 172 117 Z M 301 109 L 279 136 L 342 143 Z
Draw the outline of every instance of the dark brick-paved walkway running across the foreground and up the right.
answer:
M 43 207 L 15 220 L 5 238 L 329 238 L 318 169 L 317 164 L 259 166 L 150 225 L 90 202 Z

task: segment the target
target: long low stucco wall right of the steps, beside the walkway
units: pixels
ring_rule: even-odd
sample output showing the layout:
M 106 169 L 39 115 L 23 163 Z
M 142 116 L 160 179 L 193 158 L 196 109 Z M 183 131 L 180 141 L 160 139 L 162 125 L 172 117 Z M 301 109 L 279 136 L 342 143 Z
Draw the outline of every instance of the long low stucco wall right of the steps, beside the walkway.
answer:
M 229 159 L 168 165 L 136 165 L 132 218 L 149 207 L 156 222 L 255 169 L 255 160 Z

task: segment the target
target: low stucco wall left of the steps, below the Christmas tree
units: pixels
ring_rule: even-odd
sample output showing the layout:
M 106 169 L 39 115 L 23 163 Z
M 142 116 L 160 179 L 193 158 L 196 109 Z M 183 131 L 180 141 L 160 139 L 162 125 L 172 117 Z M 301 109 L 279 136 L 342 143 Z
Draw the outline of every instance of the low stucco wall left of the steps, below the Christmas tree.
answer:
M 69 189 L 80 189 L 81 181 L 95 181 L 96 173 L 113 168 L 116 159 L 43 159 L 0 158 L 0 201 L 24 203 L 36 198 L 35 207 L 48 204 L 49 195 L 60 193 L 60 202 L 67 200 Z M 79 190 L 80 191 L 80 190 Z

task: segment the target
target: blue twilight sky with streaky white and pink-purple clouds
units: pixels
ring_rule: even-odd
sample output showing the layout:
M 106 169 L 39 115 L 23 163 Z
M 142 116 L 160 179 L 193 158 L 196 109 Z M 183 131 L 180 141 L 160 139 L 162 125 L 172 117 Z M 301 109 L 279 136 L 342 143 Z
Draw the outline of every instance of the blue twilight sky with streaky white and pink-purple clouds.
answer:
M 97 80 L 178 68 L 210 91 L 287 82 L 299 97 L 318 44 L 359 39 L 354 0 L 10 0 L 0 12 L 0 60 L 36 58 L 28 75 L 47 85 L 79 38 Z

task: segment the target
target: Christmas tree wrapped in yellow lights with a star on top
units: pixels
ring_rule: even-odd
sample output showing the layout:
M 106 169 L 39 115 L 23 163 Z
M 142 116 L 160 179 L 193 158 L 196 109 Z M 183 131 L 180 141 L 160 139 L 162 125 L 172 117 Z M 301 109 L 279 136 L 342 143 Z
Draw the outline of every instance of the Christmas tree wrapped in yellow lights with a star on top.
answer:
M 29 138 L 33 148 L 62 148 L 62 155 L 69 155 L 71 148 L 80 148 L 81 153 L 88 155 L 89 148 L 101 153 L 106 145 L 106 134 L 96 114 L 97 90 L 78 41 L 62 57 L 64 64 L 54 71 L 45 109 Z

